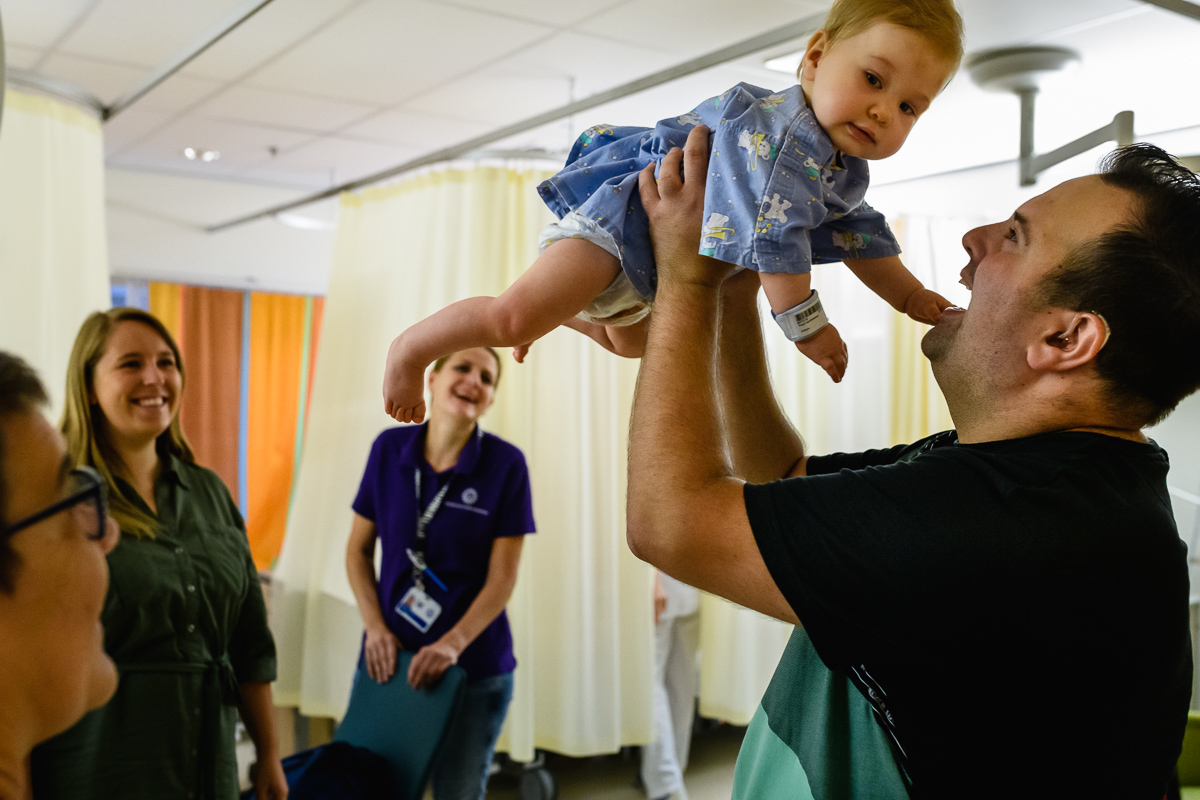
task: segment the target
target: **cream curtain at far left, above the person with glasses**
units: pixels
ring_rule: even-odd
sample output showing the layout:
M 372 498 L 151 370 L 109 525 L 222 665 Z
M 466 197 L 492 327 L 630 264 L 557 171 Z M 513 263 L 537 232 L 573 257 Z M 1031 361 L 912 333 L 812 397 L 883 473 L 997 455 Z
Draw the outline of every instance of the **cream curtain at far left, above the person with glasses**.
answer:
M 12 88 L 0 128 L 0 349 L 61 408 L 71 345 L 108 308 L 104 145 L 91 112 Z

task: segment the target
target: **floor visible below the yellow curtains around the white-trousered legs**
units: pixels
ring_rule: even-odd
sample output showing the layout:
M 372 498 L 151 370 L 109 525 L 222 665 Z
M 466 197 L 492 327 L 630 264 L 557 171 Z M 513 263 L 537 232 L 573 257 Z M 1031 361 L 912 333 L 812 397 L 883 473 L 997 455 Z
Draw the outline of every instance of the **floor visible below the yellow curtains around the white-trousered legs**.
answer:
M 690 800 L 728 800 L 733 790 L 733 763 L 745 728 L 709 723 L 698 727 L 691 742 L 691 762 L 684 774 Z M 644 800 L 637 788 L 638 757 L 634 748 L 613 756 L 568 758 L 548 753 L 546 768 L 558 786 L 559 800 Z M 520 778 L 500 772 L 487 784 L 488 800 L 522 800 Z

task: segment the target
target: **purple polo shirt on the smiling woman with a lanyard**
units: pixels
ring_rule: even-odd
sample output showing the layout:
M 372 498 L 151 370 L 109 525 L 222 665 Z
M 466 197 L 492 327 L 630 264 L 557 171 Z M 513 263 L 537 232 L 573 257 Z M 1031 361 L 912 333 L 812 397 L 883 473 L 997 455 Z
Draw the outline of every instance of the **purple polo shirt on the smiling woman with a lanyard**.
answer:
M 434 473 L 425 461 L 426 429 L 425 425 L 410 425 L 380 433 L 371 446 L 354 499 L 354 511 L 374 522 L 379 531 L 379 607 L 406 650 L 437 642 L 467 613 L 487 581 L 493 540 L 534 533 L 529 471 L 517 447 L 476 426 L 458 463 Z M 420 509 L 415 503 L 418 469 Z M 448 590 L 425 579 L 425 591 L 442 603 L 442 614 L 421 633 L 396 613 L 396 604 L 413 585 L 413 565 L 406 548 L 416 547 L 416 517 L 446 481 L 450 489 L 426 529 L 425 559 Z M 511 672 L 516 663 L 505 612 L 458 656 L 458 666 L 467 670 L 469 680 Z

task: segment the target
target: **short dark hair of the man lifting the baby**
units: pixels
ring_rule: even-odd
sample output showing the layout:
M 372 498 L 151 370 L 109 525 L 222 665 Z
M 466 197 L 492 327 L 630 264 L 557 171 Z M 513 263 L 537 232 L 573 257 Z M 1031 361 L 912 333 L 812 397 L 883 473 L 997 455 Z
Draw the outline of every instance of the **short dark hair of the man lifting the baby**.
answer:
M 1200 387 L 1200 179 L 1150 144 L 1108 155 L 1100 179 L 1136 198 L 1134 218 L 1076 247 L 1040 299 L 1104 317 L 1097 373 L 1115 405 L 1153 425 Z

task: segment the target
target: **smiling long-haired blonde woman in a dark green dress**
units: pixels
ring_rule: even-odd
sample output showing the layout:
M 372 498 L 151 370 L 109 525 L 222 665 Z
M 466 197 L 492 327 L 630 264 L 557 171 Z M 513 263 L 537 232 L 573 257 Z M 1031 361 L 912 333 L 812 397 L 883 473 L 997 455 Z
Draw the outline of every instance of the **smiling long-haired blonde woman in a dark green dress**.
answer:
M 185 383 L 179 348 L 145 312 L 94 313 L 76 337 L 62 432 L 72 463 L 103 477 L 121 529 L 102 614 L 120 685 L 34 751 L 38 800 L 234 800 L 238 709 L 258 796 L 287 796 L 263 593 L 233 498 L 180 428 Z

